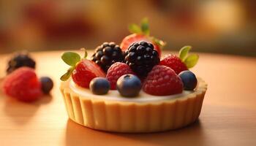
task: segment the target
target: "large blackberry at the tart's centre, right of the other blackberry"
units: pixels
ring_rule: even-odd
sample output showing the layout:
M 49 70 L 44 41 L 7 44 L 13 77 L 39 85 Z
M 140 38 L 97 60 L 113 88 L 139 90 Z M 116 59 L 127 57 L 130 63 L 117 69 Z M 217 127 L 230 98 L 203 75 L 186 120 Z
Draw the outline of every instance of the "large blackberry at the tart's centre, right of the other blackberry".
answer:
M 154 45 L 143 41 L 130 45 L 124 56 L 125 63 L 140 77 L 146 77 L 148 72 L 160 61 L 157 50 L 154 50 Z

